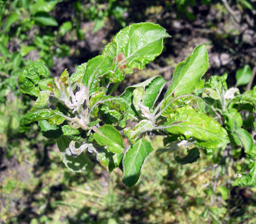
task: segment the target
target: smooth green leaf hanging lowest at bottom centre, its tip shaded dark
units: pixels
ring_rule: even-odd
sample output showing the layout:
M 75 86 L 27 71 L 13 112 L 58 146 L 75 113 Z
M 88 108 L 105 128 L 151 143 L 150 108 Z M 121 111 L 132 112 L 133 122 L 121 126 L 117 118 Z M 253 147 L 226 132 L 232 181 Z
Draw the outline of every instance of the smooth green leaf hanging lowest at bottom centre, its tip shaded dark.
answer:
M 151 144 L 144 139 L 138 139 L 135 144 L 127 150 L 123 157 L 123 184 L 133 186 L 139 180 L 144 160 L 154 151 Z

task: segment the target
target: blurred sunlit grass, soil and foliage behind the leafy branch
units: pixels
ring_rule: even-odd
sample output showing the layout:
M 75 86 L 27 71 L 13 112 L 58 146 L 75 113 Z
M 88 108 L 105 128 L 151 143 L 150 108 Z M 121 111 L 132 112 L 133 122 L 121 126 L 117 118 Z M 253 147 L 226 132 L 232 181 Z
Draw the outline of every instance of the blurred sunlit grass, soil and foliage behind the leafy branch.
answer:
M 220 151 L 182 166 L 168 152 L 151 154 L 130 189 L 121 171 L 108 173 L 93 156 L 92 170 L 69 171 L 55 141 L 37 125 L 19 133 L 31 102 L 16 81 L 31 61 L 47 65 L 52 76 L 65 68 L 75 72 L 121 28 L 154 22 L 172 38 L 153 63 L 126 77 L 120 92 L 158 74 L 170 84 L 177 63 L 202 43 L 210 63 L 206 77 L 226 72 L 233 86 L 239 70 L 255 70 L 255 0 L 0 0 L 0 18 L 0 223 L 256 223 L 256 188 L 230 184 L 239 163 L 216 170 Z M 163 147 L 160 137 L 152 143 Z

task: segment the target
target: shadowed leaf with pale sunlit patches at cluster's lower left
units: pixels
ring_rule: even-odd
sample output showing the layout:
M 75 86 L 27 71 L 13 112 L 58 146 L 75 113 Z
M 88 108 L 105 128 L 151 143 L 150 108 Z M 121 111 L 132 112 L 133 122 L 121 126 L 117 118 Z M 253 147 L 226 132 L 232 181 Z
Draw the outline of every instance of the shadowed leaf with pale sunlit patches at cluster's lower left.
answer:
M 71 139 L 67 138 L 66 136 L 61 136 L 59 139 L 57 139 L 58 148 L 60 150 L 61 156 L 63 156 L 63 163 L 65 166 L 71 171 L 79 173 L 85 171 L 88 168 L 92 168 L 92 161 L 90 161 L 84 153 L 77 157 L 67 155 L 65 150 L 69 147 L 70 142 Z

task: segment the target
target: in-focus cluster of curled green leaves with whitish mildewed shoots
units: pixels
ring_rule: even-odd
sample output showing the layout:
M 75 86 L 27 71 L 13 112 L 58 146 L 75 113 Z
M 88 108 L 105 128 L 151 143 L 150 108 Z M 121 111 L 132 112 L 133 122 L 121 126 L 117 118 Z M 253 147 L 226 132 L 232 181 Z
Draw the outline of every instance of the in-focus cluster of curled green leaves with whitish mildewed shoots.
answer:
M 162 152 L 175 150 L 174 158 L 180 164 L 193 163 L 200 151 L 212 154 L 229 142 L 243 147 L 253 159 L 253 139 L 246 129 L 255 127 L 247 122 L 243 128 L 240 113 L 255 108 L 255 89 L 244 94 L 237 88 L 228 89 L 226 74 L 204 83 L 209 65 L 204 45 L 177 65 L 162 100 L 159 96 L 166 85 L 162 76 L 112 96 L 125 74 L 142 70 L 160 55 L 164 38 L 170 35 L 159 25 L 135 23 L 119 31 L 101 55 L 79 65 L 71 75 L 64 70 L 60 77 L 52 78 L 44 65 L 28 65 L 18 84 L 20 92 L 35 103 L 20 119 L 20 131 L 38 122 L 45 136 L 57 139 L 69 169 L 82 172 L 92 167 L 86 154 L 94 153 L 110 172 L 120 168 L 123 183 L 129 187 L 138 181 L 144 161 L 154 151 L 148 138 L 151 133 L 166 136 Z M 238 83 L 242 85 L 239 80 L 241 74 Z M 249 117 L 254 119 L 254 113 Z M 128 120 L 133 126 L 127 126 Z M 128 139 L 127 146 L 123 138 Z M 186 148 L 187 156 L 176 155 L 179 148 Z M 252 165 L 250 168 L 255 171 Z

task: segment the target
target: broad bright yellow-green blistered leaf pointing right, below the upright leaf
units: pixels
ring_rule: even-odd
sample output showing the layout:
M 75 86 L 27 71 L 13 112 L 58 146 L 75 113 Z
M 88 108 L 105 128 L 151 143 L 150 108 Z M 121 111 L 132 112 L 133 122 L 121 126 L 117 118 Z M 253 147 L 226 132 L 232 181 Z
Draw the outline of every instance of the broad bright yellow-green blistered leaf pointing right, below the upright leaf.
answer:
M 226 130 L 218 122 L 191 107 L 177 108 L 175 114 L 170 114 L 164 126 L 158 129 L 184 135 L 186 139 L 193 137 L 205 148 L 224 147 L 229 143 Z

